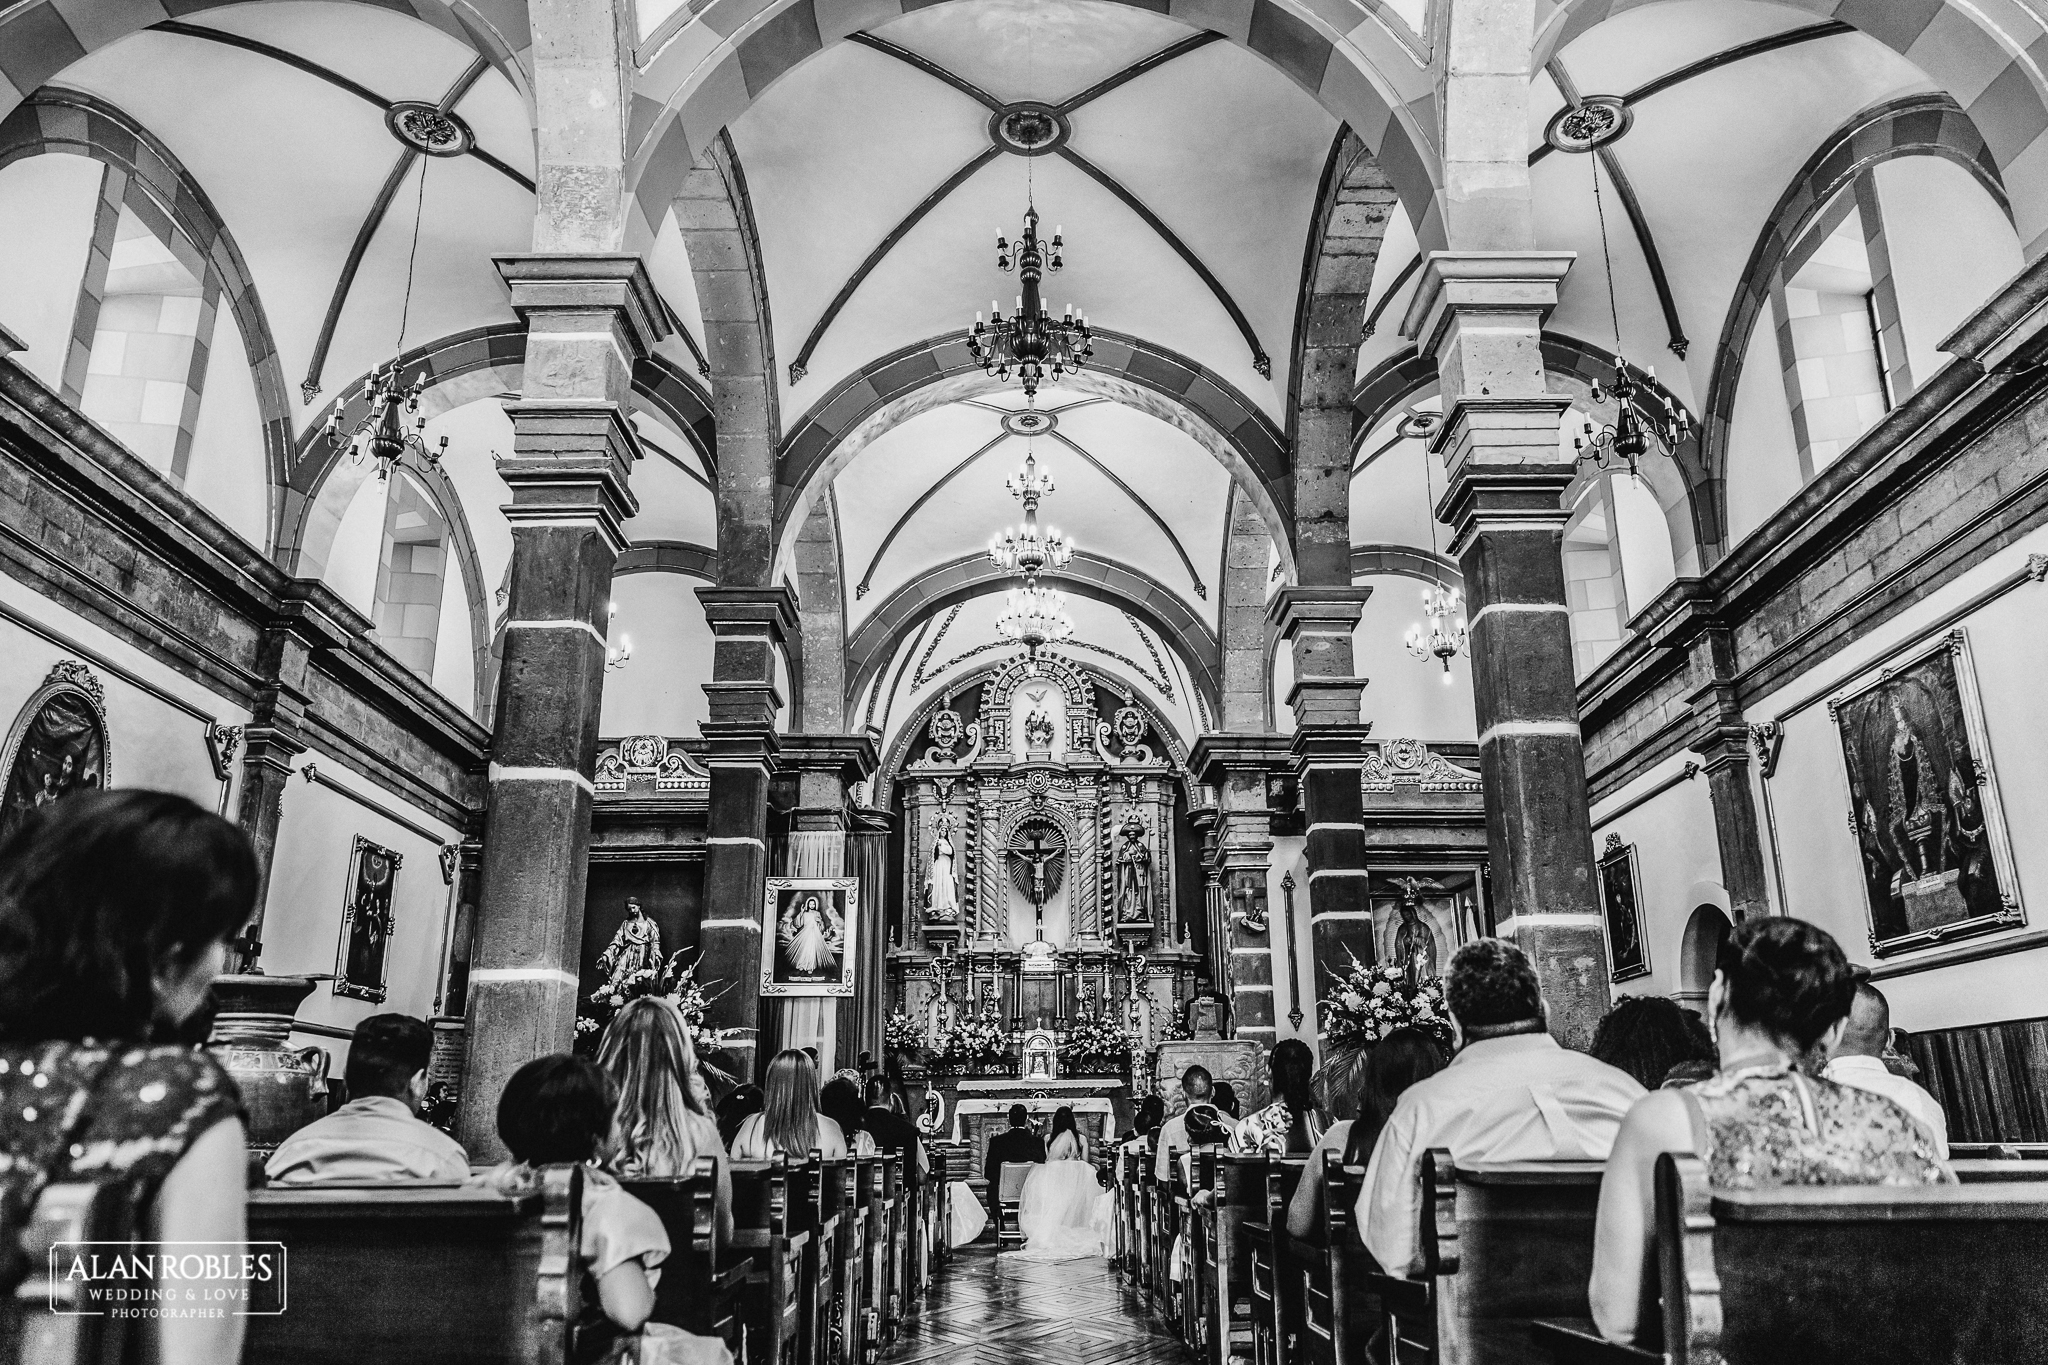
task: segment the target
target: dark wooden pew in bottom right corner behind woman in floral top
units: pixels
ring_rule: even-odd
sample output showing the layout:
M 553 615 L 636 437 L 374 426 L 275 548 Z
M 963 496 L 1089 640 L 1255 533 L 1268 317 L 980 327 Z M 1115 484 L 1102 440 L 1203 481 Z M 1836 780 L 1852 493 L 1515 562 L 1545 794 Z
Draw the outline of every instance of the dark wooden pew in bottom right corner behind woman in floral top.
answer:
M 2048 1351 L 2048 1185 L 1714 1193 L 1657 1158 L 1663 1351 L 1538 1322 L 1561 1365 L 2019 1365 Z

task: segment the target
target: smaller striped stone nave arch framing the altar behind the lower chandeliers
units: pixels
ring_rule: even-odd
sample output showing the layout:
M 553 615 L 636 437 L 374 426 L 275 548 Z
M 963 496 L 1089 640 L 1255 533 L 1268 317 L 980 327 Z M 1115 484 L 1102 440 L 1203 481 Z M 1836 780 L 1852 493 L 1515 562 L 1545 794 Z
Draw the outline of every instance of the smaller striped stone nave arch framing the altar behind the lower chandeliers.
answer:
M 846 706 L 852 708 L 866 686 L 883 671 L 907 634 L 932 614 L 958 602 L 979 598 L 1014 579 L 989 565 L 983 555 L 969 555 L 922 575 L 885 598 L 846 643 Z M 1073 563 L 1047 575 L 1049 585 L 1077 598 L 1106 602 L 1130 612 L 1180 657 L 1194 688 L 1217 712 L 1221 659 L 1217 636 L 1178 596 L 1145 573 L 1098 559 L 1085 551 Z

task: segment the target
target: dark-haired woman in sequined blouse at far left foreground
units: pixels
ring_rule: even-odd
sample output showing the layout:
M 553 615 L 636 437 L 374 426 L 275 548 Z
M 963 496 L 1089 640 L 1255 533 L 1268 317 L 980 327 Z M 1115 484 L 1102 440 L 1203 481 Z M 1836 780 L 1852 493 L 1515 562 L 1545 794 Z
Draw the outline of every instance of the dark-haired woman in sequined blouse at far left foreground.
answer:
M 131 1191 L 145 1240 L 242 1242 L 242 1095 L 166 1040 L 254 909 L 248 837 L 182 796 L 82 792 L 0 843 L 0 1226 L 18 1232 L 47 1183 L 90 1181 Z M 242 1324 L 166 1314 L 145 1355 L 233 1361 Z

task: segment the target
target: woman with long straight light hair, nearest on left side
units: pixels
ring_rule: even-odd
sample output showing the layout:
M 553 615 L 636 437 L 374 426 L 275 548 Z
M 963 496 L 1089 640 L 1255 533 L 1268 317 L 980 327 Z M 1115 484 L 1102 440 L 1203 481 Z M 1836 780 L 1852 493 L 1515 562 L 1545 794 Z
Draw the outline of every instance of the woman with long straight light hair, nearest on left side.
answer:
M 705 1107 L 702 1066 L 674 1001 L 627 1001 L 604 1027 L 598 1066 L 618 1091 L 610 1164 L 627 1179 L 690 1175 L 709 1160 L 717 1181 L 719 1242 L 733 1234 L 733 1173 L 719 1126 Z

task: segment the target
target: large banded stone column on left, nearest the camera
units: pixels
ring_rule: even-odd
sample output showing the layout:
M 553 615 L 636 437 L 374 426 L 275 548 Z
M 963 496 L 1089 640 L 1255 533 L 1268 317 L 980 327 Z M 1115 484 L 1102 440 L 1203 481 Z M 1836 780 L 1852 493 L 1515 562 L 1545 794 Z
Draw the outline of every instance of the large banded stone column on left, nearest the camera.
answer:
M 633 362 L 666 332 L 639 256 L 502 256 L 526 321 L 508 403 L 512 577 L 492 733 L 483 880 L 469 970 L 461 1140 L 498 1154 L 498 1093 L 575 1036 L 604 630 L 639 440 Z

